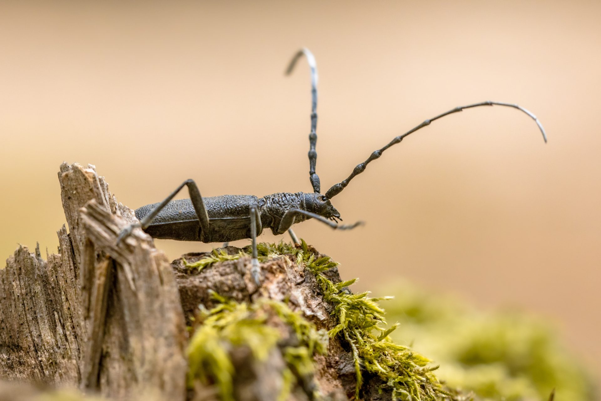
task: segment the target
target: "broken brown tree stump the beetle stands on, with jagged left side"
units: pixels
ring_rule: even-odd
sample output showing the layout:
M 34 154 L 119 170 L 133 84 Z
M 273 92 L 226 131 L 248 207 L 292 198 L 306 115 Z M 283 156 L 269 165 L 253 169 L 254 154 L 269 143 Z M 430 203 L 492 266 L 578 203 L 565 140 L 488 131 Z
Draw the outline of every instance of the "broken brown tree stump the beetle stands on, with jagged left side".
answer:
M 96 168 L 63 163 L 58 178 L 69 225 L 69 233 L 64 225 L 58 231 L 58 254 L 47 254 L 44 260 L 38 247 L 30 253 L 19 246 L 0 271 L 1 378 L 80 388 L 114 400 L 355 397 L 358 351 L 342 335 L 326 340 L 327 352 L 313 352 L 319 344 L 311 345 L 310 369 L 294 367 L 290 361 L 291 350 L 302 350 L 300 337 L 290 329 L 293 325 L 282 321 L 296 319 L 296 329 L 313 336 L 340 323 L 317 274 L 305 263 L 285 254 L 266 258 L 257 286 L 250 259 L 239 248 L 222 249 L 224 260 L 199 271 L 186 264 L 210 253 L 187 254 L 169 263 L 139 228 L 116 245 L 118 233 L 135 215 L 117 202 Z M 305 251 L 321 257 L 314 249 Z M 320 275 L 328 283 L 340 283 L 336 268 Z M 232 343 L 227 351 L 231 364 L 227 391 L 218 387 L 219 378 L 194 380 L 188 367 L 192 354 L 186 351 L 190 341 L 186 326 L 206 327 L 204 322 L 219 313 L 211 308 L 224 299 L 247 308 L 248 316 L 260 316 L 266 327 L 276 330 L 270 333 L 278 333 L 276 345 L 263 359 L 253 356 L 252 346 Z M 296 357 L 302 361 L 303 355 Z M 430 380 L 428 372 L 424 368 L 419 374 Z M 364 399 L 391 398 L 382 378 L 365 372 L 363 380 Z M 436 399 L 447 397 L 441 394 L 436 393 Z

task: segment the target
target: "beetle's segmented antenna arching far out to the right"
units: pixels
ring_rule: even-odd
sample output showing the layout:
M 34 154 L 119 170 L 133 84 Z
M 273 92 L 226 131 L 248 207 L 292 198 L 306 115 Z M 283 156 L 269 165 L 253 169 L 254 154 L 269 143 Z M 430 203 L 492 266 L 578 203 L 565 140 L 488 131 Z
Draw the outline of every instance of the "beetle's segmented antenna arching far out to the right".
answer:
M 382 156 L 382 152 L 384 152 L 386 149 L 388 149 L 392 145 L 398 144 L 398 142 L 402 141 L 405 138 L 405 136 L 412 134 L 413 132 L 415 132 L 418 129 L 422 129 L 423 127 L 425 127 L 427 125 L 430 125 L 430 123 L 432 123 L 432 121 L 435 121 L 435 120 L 438 120 L 439 118 L 445 117 L 445 115 L 449 115 L 449 114 L 453 114 L 453 113 L 456 113 L 456 112 L 460 112 L 463 109 L 469 109 L 469 108 L 472 108 L 472 107 L 492 106 L 492 105 L 513 107 L 514 109 L 518 109 L 518 110 L 523 111 L 526 114 L 528 114 L 528 116 L 530 118 L 532 118 L 532 120 L 535 121 L 535 123 L 537 124 L 538 128 L 540 129 L 540 132 L 543 134 L 543 139 L 545 139 L 545 143 L 547 142 L 547 135 L 545 133 L 545 129 L 543 128 L 543 125 L 540 123 L 540 121 L 538 121 L 538 118 L 536 118 L 536 116 L 534 114 L 532 114 L 531 112 L 529 112 L 525 108 L 522 108 L 522 107 L 520 107 L 518 105 L 514 105 L 512 103 L 490 102 L 489 101 L 489 102 L 474 103 L 473 105 L 468 105 L 468 106 L 459 106 L 459 107 L 451 109 L 451 110 L 449 110 L 447 112 L 439 114 L 439 115 L 437 115 L 434 118 L 430 118 L 430 120 L 424 121 L 423 123 L 419 124 L 418 126 L 416 126 L 416 127 L 412 128 L 412 129 L 410 129 L 409 131 L 403 133 L 403 135 L 396 136 L 385 147 L 383 147 L 383 148 L 381 148 L 379 150 L 376 150 L 375 152 L 371 153 L 370 157 L 366 161 L 362 162 L 361 164 L 356 165 L 356 167 L 353 169 L 353 172 L 350 174 L 349 177 L 347 177 L 346 180 L 344 180 L 343 182 L 337 183 L 335 185 L 332 185 L 332 188 L 328 189 L 328 192 L 326 192 L 326 198 L 331 199 L 331 198 L 335 197 L 336 195 L 340 194 L 340 192 L 342 192 L 342 190 L 344 188 L 346 188 L 347 185 L 349 185 L 350 180 L 352 180 L 353 178 L 355 178 L 355 176 L 357 174 L 363 173 L 363 171 L 365 170 L 365 167 L 367 167 L 367 165 L 370 164 L 371 161 L 374 161 L 377 158 L 379 158 L 380 156 Z

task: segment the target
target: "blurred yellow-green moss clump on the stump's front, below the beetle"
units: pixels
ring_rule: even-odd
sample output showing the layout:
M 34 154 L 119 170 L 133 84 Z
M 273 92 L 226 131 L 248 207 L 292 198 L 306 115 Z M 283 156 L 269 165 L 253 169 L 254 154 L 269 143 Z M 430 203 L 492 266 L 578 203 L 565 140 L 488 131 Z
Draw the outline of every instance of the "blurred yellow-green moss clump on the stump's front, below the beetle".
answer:
M 283 302 L 259 299 L 253 304 L 237 303 L 215 293 L 213 298 L 219 302 L 211 310 L 201 310 L 195 319 L 195 332 L 188 349 L 188 384 L 193 387 L 195 381 L 203 384 L 216 384 L 222 400 L 234 400 L 234 366 L 230 352 L 234 347 L 248 347 L 255 360 L 264 361 L 269 353 L 278 346 L 278 341 L 288 337 L 279 325 L 289 328 L 293 336 L 287 345 L 281 347 L 286 367 L 282 371 L 282 393 L 285 400 L 298 378 L 313 373 L 313 355 L 325 354 L 328 349 L 328 337 L 319 332 L 301 314 L 296 313 Z

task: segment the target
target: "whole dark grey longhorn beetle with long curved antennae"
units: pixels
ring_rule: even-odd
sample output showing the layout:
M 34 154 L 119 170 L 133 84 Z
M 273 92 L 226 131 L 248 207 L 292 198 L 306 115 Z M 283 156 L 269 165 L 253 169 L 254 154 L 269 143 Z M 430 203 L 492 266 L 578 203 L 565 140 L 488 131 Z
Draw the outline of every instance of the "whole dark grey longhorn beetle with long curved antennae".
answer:
M 331 199 L 340 194 L 349 182 L 358 174 L 361 174 L 370 162 L 379 158 L 382 153 L 392 145 L 401 142 L 407 135 L 430 125 L 432 121 L 453 114 L 463 109 L 478 106 L 507 106 L 516 108 L 529 115 L 538 125 L 547 141 L 545 129 L 538 118 L 528 110 L 511 103 L 502 102 L 480 102 L 467 106 L 459 106 L 436 117 L 423 121 L 416 127 L 402 135 L 395 136 L 387 145 L 371 153 L 366 161 L 356 165 L 353 172 L 340 183 L 333 185 L 325 195 L 320 189 L 319 176 L 315 172 L 317 153 L 315 145 L 317 142 L 317 66 L 313 54 L 308 49 L 297 52 L 286 70 L 289 75 L 296 62 L 302 56 L 307 58 L 311 70 L 311 133 L 309 134 L 309 179 L 313 186 L 313 194 L 304 192 L 278 193 L 257 198 L 254 195 L 221 195 L 218 197 L 201 197 L 198 186 L 194 180 L 186 180 L 175 188 L 160 203 L 149 204 L 135 210 L 139 222 L 135 222 L 124 228 L 117 238 L 117 243 L 128 236 L 132 229 L 141 227 L 146 233 L 154 238 L 175 239 L 182 241 L 202 242 L 229 242 L 238 239 L 252 239 L 252 262 L 251 274 L 255 283 L 260 284 L 260 266 L 257 259 L 257 236 L 261 234 L 264 227 L 271 228 L 273 234 L 284 234 L 286 231 L 294 242 L 298 242 L 291 226 L 295 223 L 314 218 L 337 230 L 350 230 L 362 222 L 350 225 L 338 224 L 340 213 L 332 206 Z M 188 186 L 189 199 L 172 200 L 175 195 Z

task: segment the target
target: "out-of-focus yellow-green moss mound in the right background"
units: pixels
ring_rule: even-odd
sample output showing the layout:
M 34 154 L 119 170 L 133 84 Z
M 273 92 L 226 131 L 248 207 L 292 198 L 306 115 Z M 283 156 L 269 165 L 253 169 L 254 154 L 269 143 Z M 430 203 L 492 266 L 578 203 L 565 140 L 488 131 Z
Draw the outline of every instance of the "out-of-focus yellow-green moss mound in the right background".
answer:
M 547 400 L 553 388 L 558 400 L 596 399 L 578 357 L 542 319 L 519 311 L 483 313 L 406 283 L 394 291 L 387 313 L 401 326 L 393 336 L 426 350 L 449 385 L 484 400 Z

